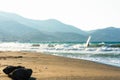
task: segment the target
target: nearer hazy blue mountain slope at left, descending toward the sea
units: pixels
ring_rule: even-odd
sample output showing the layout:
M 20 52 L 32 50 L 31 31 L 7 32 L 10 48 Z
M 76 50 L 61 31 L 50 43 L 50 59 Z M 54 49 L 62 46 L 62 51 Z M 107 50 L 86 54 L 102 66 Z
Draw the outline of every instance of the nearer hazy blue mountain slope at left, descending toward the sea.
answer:
M 7 25 L 6 25 L 7 24 Z M 29 28 L 15 21 L 5 21 L 0 23 L 0 40 L 1 41 L 44 41 L 52 37 L 41 33 L 39 30 Z

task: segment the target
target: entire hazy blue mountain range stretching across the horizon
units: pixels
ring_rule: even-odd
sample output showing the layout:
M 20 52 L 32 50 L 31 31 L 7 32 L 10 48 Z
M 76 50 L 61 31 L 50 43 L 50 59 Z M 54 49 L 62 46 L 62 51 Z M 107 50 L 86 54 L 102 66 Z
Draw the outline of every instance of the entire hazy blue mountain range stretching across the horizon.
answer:
M 32 20 L 12 13 L 0 12 L 0 41 L 20 42 L 84 42 L 89 35 L 91 41 L 120 41 L 120 28 L 108 27 L 90 32 L 55 19 Z

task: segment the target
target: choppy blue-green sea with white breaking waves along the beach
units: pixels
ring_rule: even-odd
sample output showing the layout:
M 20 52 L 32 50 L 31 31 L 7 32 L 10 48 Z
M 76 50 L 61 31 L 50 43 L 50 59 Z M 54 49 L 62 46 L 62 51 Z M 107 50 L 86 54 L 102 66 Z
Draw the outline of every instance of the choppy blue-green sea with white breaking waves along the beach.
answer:
M 120 67 L 120 42 L 0 42 L 0 51 L 42 52 Z

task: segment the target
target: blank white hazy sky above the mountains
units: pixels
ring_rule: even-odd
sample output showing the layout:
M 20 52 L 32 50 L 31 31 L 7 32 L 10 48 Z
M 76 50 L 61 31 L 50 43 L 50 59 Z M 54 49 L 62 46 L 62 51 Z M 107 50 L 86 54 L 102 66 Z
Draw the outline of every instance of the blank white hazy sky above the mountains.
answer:
M 120 27 L 120 0 L 0 0 L 0 11 L 57 19 L 82 30 Z

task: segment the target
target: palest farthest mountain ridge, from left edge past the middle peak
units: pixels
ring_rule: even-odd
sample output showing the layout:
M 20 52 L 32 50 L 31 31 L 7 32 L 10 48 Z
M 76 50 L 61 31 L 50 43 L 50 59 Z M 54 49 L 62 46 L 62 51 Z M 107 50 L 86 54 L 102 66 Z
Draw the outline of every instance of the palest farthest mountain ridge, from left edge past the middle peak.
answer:
M 64 24 L 55 19 L 48 20 L 31 20 L 27 18 L 23 18 L 19 15 L 13 13 L 0 12 L 0 17 L 2 20 L 13 20 L 17 21 L 21 24 L 27 25 L 31 28 L 38 29 L 42 32 L 72 32 L 78 34 L 86 34 L 85 31 L 82 31 L 72 25 Z

